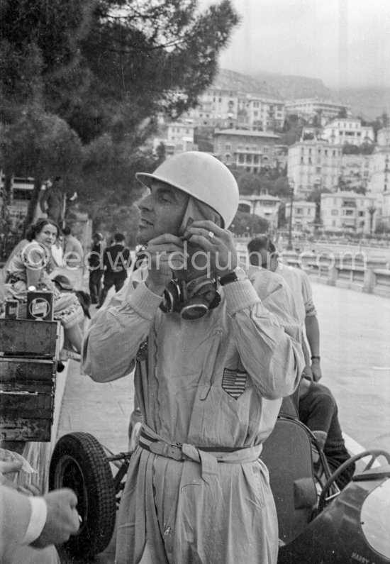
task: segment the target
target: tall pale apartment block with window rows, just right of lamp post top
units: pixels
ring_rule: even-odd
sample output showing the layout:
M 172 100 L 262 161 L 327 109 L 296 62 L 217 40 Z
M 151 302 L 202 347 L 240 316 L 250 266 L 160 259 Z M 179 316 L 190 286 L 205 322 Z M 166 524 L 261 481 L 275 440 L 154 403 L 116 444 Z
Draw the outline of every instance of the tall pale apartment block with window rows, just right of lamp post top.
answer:
M 342 148 L 324 140 L 302 140 L 289 147 L 287 170 L 294 192 L 303 199 L 314 189 L 338 188 Z

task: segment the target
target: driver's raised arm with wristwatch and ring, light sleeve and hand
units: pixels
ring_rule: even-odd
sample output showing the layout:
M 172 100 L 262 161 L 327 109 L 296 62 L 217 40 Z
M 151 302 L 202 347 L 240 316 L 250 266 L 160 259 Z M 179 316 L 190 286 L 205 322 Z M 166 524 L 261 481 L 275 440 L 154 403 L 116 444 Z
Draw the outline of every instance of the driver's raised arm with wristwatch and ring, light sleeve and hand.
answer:
M 208 232 L 214 233 L 213 238 Z M 235 242 L 229 231 L 211 221 L 194 221 L 184 233 L 210 258 L 212 269 L 221 277 L 237 265 Z M 303 371 L 301 343 L 284 331 L 269 313 L 249 279 L 223 286 L 228 314 L 241 362 L 260 395 L 280 399 L 291 395 Z

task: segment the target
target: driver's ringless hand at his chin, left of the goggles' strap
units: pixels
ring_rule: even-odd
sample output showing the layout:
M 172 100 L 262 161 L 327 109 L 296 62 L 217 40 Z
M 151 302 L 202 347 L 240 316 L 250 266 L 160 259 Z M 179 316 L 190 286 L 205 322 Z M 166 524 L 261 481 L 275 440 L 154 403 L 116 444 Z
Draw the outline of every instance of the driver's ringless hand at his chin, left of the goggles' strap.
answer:
M 146 285 L 157 295 L 162 295 L 172 271 L 180 270 L 184 264 L 184 244 L 181 238 L 169 233 L 151 239 L 145 250 L 149 274 Z

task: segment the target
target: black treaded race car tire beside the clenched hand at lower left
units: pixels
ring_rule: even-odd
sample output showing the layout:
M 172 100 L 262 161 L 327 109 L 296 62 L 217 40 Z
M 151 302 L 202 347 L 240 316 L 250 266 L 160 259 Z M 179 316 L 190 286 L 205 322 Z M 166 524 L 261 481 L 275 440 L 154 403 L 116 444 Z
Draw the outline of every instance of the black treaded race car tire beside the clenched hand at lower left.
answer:
M 65 543 L 77 558 L 91 558 L 108 546 L 116 519 L 113 475 L 104 449 L 89 433 L 62 436 L 52 453 L 49 490 L 69 487 L 77 495 L 78 533 Z

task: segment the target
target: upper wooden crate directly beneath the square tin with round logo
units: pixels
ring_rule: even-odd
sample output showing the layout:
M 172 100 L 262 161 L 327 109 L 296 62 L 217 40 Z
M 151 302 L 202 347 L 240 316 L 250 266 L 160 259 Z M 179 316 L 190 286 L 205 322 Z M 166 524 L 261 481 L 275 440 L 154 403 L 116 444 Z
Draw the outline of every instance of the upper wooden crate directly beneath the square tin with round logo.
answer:
M 59 343 L 59 321 L 0 319 L 0 353 L 54 358 Z

